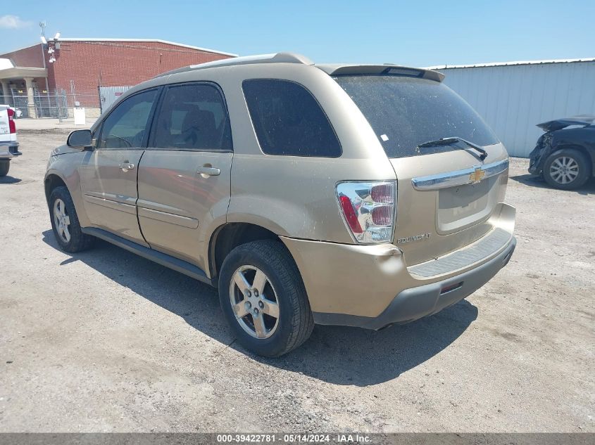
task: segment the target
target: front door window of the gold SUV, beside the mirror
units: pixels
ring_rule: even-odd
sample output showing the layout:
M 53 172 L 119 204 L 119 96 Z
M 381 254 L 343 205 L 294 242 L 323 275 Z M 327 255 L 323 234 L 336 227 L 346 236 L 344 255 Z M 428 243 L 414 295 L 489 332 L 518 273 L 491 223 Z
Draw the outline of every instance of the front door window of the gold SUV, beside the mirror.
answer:
M 156 94 L 144 91 L 120 103 L 101 125 L 99 148 L 140 147 Z

